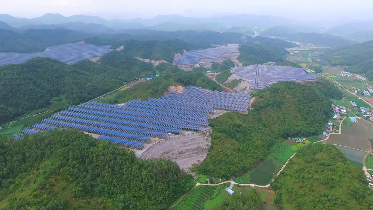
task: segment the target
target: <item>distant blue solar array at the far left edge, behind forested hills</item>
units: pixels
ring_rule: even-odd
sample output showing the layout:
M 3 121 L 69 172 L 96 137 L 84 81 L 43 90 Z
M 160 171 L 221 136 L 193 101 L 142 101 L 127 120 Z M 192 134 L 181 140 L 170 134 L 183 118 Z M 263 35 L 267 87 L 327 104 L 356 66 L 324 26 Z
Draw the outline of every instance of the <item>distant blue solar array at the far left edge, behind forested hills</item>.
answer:
M 43 57 L 60 60 L 72 64 L 82 59 L 102 56 L 111 52 L 110 45 L 98 44 L 62 44 L 48 47 L 44 52 L 38 53 L 0 53 L 0 66 L 7 64 L 20 64 L 31 58 Z

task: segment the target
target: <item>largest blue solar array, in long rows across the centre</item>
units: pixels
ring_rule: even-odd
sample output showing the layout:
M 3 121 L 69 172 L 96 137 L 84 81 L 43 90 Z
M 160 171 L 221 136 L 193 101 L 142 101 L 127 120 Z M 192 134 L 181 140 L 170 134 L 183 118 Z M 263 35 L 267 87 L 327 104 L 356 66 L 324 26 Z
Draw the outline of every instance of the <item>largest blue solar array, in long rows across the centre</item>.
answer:
M 164 138 L 182 129 L 200 130 L 208 126 L 213 108 L 247 111 L 250 93 L 226 93 L 186 87 L 147 101 L 131 100 L 125 105 L 89 102 L 69 107 L 46 118 L 22 134 L 33 134 L 56 127 L 81 130 L 121 145 L 141 148 L 151 137 Z M 15 139 L 22 136 L 15 134 Z

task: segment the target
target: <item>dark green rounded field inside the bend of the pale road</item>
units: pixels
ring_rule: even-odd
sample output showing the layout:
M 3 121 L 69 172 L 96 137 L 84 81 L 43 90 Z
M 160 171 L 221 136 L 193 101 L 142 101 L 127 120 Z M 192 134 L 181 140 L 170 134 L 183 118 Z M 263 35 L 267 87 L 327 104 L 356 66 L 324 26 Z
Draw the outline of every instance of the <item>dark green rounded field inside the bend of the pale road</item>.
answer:
M 273 163 L 274 160 L 264 160 L 251 172 L 251 182 L 257 185 L 267 185 L 273 175 L 276 174 L 278 166 Z

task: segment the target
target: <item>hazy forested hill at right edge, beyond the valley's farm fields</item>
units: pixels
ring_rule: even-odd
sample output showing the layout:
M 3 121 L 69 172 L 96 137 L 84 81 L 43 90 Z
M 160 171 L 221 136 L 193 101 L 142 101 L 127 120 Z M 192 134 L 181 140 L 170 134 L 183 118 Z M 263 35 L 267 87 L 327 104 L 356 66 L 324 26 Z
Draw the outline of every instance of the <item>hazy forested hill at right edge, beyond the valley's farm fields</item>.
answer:
M 347 71 L 366 73 L 373 80 L 373 40 L 347 47 L 339 47 L 324 53 L 323 59 L 330 65 L 347 65 Z

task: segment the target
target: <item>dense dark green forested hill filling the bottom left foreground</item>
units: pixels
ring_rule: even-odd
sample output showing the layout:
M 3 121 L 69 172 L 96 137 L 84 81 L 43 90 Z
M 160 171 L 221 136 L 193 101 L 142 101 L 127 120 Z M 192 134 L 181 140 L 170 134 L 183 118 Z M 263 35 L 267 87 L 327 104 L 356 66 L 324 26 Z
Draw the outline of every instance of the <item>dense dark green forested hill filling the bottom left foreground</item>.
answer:
M 194 185 L 172 161 L 74 130 L 0 136 L 0 166 L 0 210 L 163 210 Z

